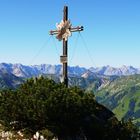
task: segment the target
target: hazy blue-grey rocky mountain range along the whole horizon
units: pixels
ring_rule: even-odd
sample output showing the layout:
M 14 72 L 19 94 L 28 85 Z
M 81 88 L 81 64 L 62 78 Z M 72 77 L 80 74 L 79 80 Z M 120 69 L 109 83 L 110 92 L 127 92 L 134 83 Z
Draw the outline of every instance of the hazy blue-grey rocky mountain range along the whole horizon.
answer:
M 17 77 L 30 78 L 33 76 L 39 76 L 41 74 L 61 75 L 62 66 L 49 65 L 49 64 L 26 66 L 22 64 L 0 63 L 0 71 L 11 73 Z M 88 74 L 122 76 L 122 75 L 140 74 L 140 68 L 134 68 L 133 66 L 124 65 L 120 68 L 114 68 L 111 66 L 103 66 L 103 67 L 98 67 L 98 68 L 91 67 L 87 69 L 84 67 L 73 66 L 73 67 L 68 67 L 68 74 L 70 76 L 80 76 L 80 77 L 88 76 Z

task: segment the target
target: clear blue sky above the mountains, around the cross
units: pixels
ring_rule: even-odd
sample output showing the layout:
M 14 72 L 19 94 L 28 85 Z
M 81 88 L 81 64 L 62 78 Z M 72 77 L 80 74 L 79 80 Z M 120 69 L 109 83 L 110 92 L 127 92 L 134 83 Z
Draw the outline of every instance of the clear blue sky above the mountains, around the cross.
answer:
M 49 31 L 69 6 L 69 65 L 140 67 L 140 0 L 0 0 L 0 62 L 60 64 L 62 42 Z

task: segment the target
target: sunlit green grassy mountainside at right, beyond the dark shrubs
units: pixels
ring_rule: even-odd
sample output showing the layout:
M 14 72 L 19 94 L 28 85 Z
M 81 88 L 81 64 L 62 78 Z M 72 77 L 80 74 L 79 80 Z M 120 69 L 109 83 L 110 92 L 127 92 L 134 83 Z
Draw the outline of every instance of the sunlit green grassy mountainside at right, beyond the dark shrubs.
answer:
M 96 93 L 97 100 L 110 108 L 119 119 L 140 122 L 140 75 L 121 77 Z

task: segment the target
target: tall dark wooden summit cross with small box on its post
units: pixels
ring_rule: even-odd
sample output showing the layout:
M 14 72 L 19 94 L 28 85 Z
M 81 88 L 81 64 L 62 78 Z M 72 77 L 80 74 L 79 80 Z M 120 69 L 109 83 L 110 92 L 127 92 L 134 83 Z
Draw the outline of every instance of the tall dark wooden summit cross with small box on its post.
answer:
M 51 30 L 50 35 L 57 35 L 57 39 L 61 40 L 62 35 L 68 32 L 80 32 L 84 30 L 83 26 L 71 27 L 68 20 L 68 6 L 64 6 L 63 10 L 63 23 L 66 24 L 64 27 L 58 30 Z M 69 25 L 69 28 L 67 26 Z M 68 38 L 63 38 L 63 55 L 60 56 L 60 61 L 63 63 L 63 75 L 62 82 L 68 87 Z

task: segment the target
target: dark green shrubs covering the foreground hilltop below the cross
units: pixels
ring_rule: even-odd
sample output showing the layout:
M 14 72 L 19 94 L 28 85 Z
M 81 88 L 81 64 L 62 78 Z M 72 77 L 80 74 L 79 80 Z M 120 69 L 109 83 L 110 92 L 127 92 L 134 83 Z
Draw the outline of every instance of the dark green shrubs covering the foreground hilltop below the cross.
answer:
M 118 121 L 92 93 L 66 88 L 44 77 L 27 80 L 16 90 L 0 94 L 0 123 L 28 138 L 49 130 L 59 140 L 135 140 L 131 121 Z

